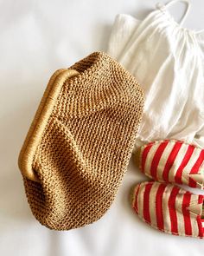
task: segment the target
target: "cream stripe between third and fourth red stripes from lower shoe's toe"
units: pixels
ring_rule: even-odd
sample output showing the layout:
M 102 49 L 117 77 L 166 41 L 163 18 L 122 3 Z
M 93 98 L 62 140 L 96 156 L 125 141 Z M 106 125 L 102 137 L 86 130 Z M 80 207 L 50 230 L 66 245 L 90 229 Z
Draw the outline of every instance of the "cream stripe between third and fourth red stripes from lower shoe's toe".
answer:
M 165 231 L 171 232 L 171 221 L 169 214 L 169 196 L 174 187 L 168 185 L 163 192 L 163 228 Z

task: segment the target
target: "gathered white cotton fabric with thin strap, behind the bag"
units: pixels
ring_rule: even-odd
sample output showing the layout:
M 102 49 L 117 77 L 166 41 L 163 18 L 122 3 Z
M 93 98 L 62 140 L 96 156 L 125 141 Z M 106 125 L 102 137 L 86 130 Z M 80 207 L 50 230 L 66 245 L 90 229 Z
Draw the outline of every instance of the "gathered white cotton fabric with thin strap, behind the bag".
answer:
M 204 148 L 204 31 L 176 23 L 167 10 L 175 2 L 159 4 L 143 21 L 118 15 L 112 28 L 108 54 L 144 90 L 136 148 L 166 138 Z

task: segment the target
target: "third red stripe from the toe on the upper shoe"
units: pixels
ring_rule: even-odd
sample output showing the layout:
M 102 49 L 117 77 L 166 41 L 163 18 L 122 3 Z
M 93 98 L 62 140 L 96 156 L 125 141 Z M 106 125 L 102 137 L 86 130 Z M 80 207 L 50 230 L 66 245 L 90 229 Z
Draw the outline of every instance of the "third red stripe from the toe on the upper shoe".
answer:
M 172 148 L 171 153 L 169 154 L 169 158 L 163 169 L 163 181 L 169 181 L 169 171 L 174 164 L 175 158 L 179 153 L 180 148 L 182 148 L 182 141 L 177 141 L 174 148 Z

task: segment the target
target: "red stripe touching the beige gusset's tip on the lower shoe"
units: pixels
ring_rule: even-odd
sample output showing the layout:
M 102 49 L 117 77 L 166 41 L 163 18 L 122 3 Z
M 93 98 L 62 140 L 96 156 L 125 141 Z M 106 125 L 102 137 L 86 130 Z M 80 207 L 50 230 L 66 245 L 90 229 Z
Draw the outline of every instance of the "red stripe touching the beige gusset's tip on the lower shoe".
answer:
M 192 235 L 190 212 L 187 209 L 187 207 L 189 207 L 189 205 L 190 205 L 190 198 L 191 198 L 191 194 L 188 191 L 185 194 L 183 194 L 182 213 L 183 213 L 186 235 Z

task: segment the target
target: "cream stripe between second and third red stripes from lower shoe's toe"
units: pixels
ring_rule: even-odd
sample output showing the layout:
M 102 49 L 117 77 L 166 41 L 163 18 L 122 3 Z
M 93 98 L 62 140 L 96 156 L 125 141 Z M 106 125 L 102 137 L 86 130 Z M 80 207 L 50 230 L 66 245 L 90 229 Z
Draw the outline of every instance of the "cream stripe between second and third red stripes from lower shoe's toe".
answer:
M 150 190 L 150 220 L 151 220 L 151 225 L 157 226 L 157 221 L 156 221 L 156 193 L 158 191 L 160 184 L 157 182 L 153 183 L 153 186 L 151 187 Z

